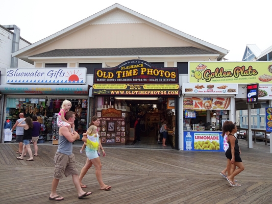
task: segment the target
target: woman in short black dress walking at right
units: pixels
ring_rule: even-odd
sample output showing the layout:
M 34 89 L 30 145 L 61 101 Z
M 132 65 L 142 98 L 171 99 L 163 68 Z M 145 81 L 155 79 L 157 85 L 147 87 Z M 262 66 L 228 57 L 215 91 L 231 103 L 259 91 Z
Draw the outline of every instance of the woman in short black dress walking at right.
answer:
M 230 164 L 227 165 L 228 172 L 230 172 L 230 174 L 227 177 L 227 180 L 231 186 L 241 186 L 240 184 L 235 183 L 234 181 L 234 176 L 236 176 L 237 174 L 244 170 L 243 162 L 240 158 L 241 151 L 240 147 L 238 146 L 238 139 L 234 136 L 234 134 L 237 133 L 237 127 L 233 123 L 228 123 L 226 124 L 224 130 L 226 130 L 226 132 L 230 132 L 230 134 L 228 135 L 229 148 L 226 151 L 228 164 Z M 231 169 L 229 169 L 229 166 L 231 166 Z M 236 169 L 236 167 L 238 168 Z

